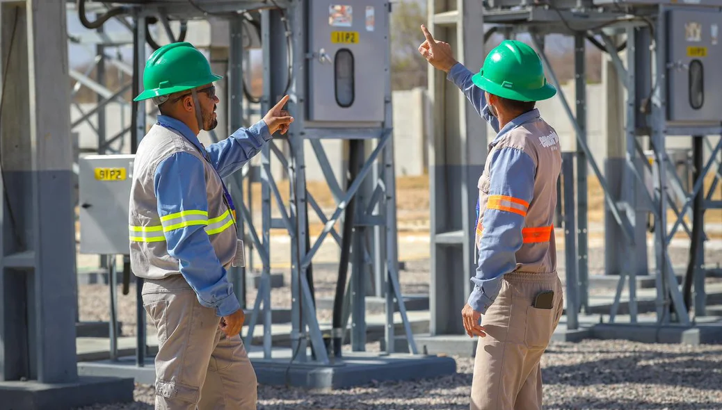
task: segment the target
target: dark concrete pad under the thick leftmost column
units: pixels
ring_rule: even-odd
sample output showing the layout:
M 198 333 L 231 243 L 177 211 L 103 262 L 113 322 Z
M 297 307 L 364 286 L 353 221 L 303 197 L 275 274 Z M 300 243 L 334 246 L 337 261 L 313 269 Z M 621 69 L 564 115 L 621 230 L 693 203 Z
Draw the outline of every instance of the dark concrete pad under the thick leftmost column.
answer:
M 0 410 L 76 409 L 93 404 L 131 403 L 132 378 L 80 377 L 74 383 L 0 382 Z

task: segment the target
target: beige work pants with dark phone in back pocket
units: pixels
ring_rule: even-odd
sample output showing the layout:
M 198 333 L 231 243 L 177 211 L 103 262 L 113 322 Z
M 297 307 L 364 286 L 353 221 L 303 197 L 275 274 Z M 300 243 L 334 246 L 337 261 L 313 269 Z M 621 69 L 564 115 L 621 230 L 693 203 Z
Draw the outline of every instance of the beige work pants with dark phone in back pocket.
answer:
M 554 291 L 552 309 L 532 307 Z M 556 272 L 506 274 L 496 300 L 482 316 L 471 382 L 471 410 L 541 409 L 541 354 L 562 315 L 562 283 Z

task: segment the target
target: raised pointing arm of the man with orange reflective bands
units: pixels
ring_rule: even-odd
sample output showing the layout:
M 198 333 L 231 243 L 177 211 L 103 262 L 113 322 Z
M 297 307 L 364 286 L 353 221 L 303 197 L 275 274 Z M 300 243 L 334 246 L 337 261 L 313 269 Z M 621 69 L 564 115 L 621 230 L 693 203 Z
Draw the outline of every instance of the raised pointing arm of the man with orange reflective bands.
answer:
M 477 113 L 490 123 L 495 131 L 499 132 L 499 121 L 491 115 L 487 99 L 484 97 L 484 91 L 471 81 L 473 75 L 471 71 L 466 69 L 464 64 L 456 61 L 451 52 L 451 45 L 444 41 L 435 40 L 426 26 L 422 25 L 421 30 L 424 33 L 425 40 L 424 43 L 419 45 L 419 53 L 435 69 L 444 71 L 446 79 L 453 82 L 459 90 L 464 92 L 474 110 L 477 110 Z

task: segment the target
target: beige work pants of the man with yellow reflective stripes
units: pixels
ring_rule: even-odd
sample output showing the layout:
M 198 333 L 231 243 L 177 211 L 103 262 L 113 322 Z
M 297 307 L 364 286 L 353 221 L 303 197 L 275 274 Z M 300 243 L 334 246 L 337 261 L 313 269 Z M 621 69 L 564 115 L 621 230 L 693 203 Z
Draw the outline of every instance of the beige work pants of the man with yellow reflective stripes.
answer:
M 143 284 L 143 306 L 158 332 L 155 409 L 256 409 L 256 373 L 236 335 L 198 302 L 181 275 Z

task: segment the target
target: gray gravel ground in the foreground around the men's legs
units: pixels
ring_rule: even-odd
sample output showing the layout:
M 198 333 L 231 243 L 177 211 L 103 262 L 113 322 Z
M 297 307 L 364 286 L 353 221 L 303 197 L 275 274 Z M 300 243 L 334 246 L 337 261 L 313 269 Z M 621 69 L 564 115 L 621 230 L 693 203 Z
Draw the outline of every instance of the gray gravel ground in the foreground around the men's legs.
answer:
M 378 349 L 370 344 L 369 350 Z M 258 409 L 468 409 L 473 360 L 457 374 L 339 391 L 258 386 Z M 544 409 L 722 409 L 722 346 L 629 341 L 554 343 L 542 358 Z M 153 388 L 136 385 L 133 404 L 84 410 L 152 409 Z

